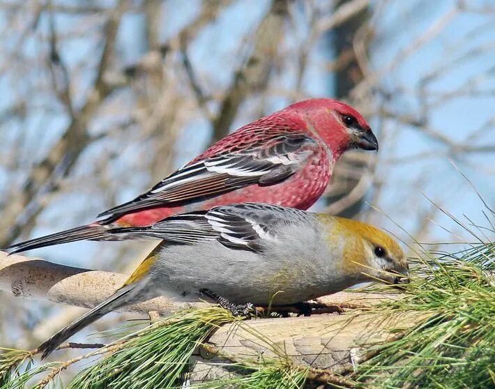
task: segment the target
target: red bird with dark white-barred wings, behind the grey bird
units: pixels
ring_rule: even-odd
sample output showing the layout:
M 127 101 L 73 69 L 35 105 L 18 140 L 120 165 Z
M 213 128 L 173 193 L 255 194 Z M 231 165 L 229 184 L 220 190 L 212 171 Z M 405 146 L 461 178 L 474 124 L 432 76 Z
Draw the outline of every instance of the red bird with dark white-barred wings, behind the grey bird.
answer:
M 335 161 L 351 148 L 378 150 L 370 125 L 355 109 L 330 98 L 296 102 L 220 139 L 148 192 L 100 213 L 102 220 L 8 248 L 118 241 L 132 238 L 125 227 L 244 201 L 305 210 L 325 190 Z

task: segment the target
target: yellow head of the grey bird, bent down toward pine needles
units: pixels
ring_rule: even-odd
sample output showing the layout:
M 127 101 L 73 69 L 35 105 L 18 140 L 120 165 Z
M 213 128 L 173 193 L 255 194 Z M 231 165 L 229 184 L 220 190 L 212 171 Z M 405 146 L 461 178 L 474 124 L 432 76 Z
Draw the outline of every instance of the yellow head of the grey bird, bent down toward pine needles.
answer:
M 330 245 L 343 241 L 343 268 L 349 274 L 360 273 L 363 280 L 382 280 L 391 284 L 409 282 L 409 266 L 404 252 L 393 238 L 370 224 L 357 220 L 320 215 L 328 226 Z

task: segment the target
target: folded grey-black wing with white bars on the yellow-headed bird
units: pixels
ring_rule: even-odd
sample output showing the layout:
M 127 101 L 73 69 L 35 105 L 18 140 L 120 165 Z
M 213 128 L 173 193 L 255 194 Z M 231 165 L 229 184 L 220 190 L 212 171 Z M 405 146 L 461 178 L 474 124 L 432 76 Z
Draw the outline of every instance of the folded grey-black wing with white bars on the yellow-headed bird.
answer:
M 181 244 L 218 241 L 233 250 L 263 252 L 277 241 L 280 227 L 305 224 L 311 215 L 294 208 L 242 203 L 175 215 L 149 227 L 125 227 L 115 231 Z

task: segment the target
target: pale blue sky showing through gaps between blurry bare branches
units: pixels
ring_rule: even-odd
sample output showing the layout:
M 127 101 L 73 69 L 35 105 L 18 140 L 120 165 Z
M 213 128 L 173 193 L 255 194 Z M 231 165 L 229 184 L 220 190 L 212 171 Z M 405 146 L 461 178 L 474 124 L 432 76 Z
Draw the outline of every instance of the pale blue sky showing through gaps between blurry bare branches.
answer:
M 108 1 L 112 3 L 112 1 Z M 390 105 L 395 112 L 404 113 L 409 116 L 420 117 L 422 107 L 418 99 L 418 83 L 430 73 L 433 73 L 438 66 L 445 67 L 442 77 L 438 77 L 431 84 L 427 85 L 428 91 L 455 91 L 459 86 L 466 82 L 476 82 L 476 85 L 482 85 L 482 88 L 492 93 L 486 93 L 483 96 L 466 96 L 456 98 L 448 103 L 440 104 L 432 112 L 429 112 L 429 120 L 432 128 L 441 135 L 450 137 L 456 142 L 471 143 L 473 140 L 466 140 L 466 135 L 479 128 L 483 123 L 492 120 L 492 125 L 481 132 L 476 144 L 495 144 L 494 131 L 494 89 L 495 89 L 495 63 L 494 58 L 494 41 L 495 41 L 495 19 L 494 14 L 487 13 L 468 13 L 452 17 L 452 20 L 446 24 L 445 28 L 422 45 L 418 37 L 423 36 L 429 29 L 434 28 L 439 21 L 439 17 L 448 13 L 455 1 L 374 1 L 374 4 L 380 6 L 382 11 L 372 21 L 375 28 L 374 44 L 371 49 L 371 66 L 373 69 L 382 69 L 390 63 L 396 61 L 399 63 L 393 69 L 386 71 L 379 81 L 382 89 L 389 91 L 392 102 Z M 489 6 L 489 1 L 470 1 L 471 6 Z M 199 0 L 188 1 L 187 3 L 180 0 L 172 0 L 166 3 L 162 8 L 162 13 L 167 20 L 160 29 L 160 41 L 166 41 L 167 38 L 174 36 L 179 29 L 188 24 L 199 12 Z M 234 1 L 234 3 L 224 9 L 218 17 L 218 21 L 206 26 L 197 39 L 192 43 L 189 49 L 190 61 L 192 66 L 197 69 L 199 79 L 204 80 L 202 86 L 206 93 L 213 92 L 217 89 L 225 89 L 231 80 L 232 71 L 238 63 L 249 52 L 249 45 L 243 44 L 239 47 L 239 42 L 243 41 L 246 36 L 259 22 L 260 18 L 266 12 L 270 2 L 259 0 L 256 6 L 252 6 L 250 1 Z M 303 10 L 299 6 L 297 10 Z M 302 15 L 302 14 L 301 14 Z M 297 20 L 300 16 L 295 12 Z M 136 13 L 128 13 L 123 19 L 121 29 L 118 35 L 118 51 L 121 67 L 135 63 L 147 51 L 147 47 L 142 44 L 142 24 L 144 18 Z M 59 29 L 73 28 L 75 24 L 84 26 L 84 20 L 77 19 L 68 15 L 58 15 L 56 17 L 56 26 Z M 39 29 L 47 29 L 47 18 L 41 18 Z M 138 33 L 136 33 L 138 31 Z M 287 31 L 289 43 L 284 49 L 294 49 L 298 39 L 305 36 L 308 27 L 304 23 L 296 23 Z M 466 31 L 468 33 L 466 38 Z M 10 43 L 11 42 L 11 43 Z M 291 42 L 294 46 L 291 47 Z M 420 45 L 420 49 L 413 52 L 407 52 L 407 47 Z M 13 49 L 15 47 L 15 36 L 6 36 L 4 45 Z M 82 61 L 91 61 L 91 54 L 95 50 L 95 42 L 88 39 L 75 39 L 69 43 L 61 43 L 64 60 L 69 67 L 75 68 Z M 320 41 L 317 45 L 319 49 L 313 50 L 310 55 L 310 61 L 305 73 L 303 89 L 307 96 L 333 96 L 331 86 L 333 84 L 332 75 L 328 74 L 323 60 L 328 58 L 327 45 Z M 478 49 L 482 47 L 482 49 Z M 22 48 L 26 53 L 33 56 L 38 55 L 36 40 L 32 44 L 27 44 Z M 474 54 L 463 58 L 464 54 L 470 50 L 478 49 Z M 88 59 L 89 58 L 89 59 Z M 457 63 L 461 61 L 462 65 Z M 451 66 L 454 64 L 455 66 Z M 215 71 L 218 70 L 218 71 Z M 287 65 L 285 72 L 275 77 L 280 78 L 280 83 L 291 88 L 294 82 L 295 66 Z M 485 75 L 478 80 L 479 75 Z M 81 77 L 77 89 L 84 91 L 91 83 L 93 75 L 87 74 Z M 40 81 L 40 79 L 42 81 Z M 322 82 L 323 80 L 323 82 Z M 35 84 L 43 83 L 43 77 L 35 77 Z M 36 90 L 29 89 L 29 82 L 23 85 L 15 86 L 15 93 L 36 93 Z M 402 90 L 395 91 L 394 88 L 400 86 Z M 0 89 L 4 92 L 13 89 L 12 84 L 8 84 L 8 77 L 0 78 Z M 15 93 L 3 93 L 6 96 L 0 102 L 0 106 L 7 106 L 10 102 L 9 96 L 15 98 Z M 42 96 L 42 95 L 40 95 Z M 78 96 L 77 93 L 75 96 Z M 79 93 L 84 96 L 84 93 Z M 82 104 L 83 98 L 76 101 Z M 282 96 L 272 96 L 268 99 L 265 108 L 266 113 L 271 113 L 287 105 L 287 98 Z M 125 104 L 125 99 L 123 100 Z M 132 102 L 127 102 L 131 107 Z M 26 155 L 26 167 L 33 160 L 40 158 L 44 151 L 57 139 L 61 130 L 67 124 L 66 116 L 50 114 L 46 102 L 39 102 L 39 109 L 33 110 L 29 118 L 19 125 L 11 125 L 10 128 L 3 127 L 2 133 L 8 138 L 13 132 L 26 132 L 27 142 L 31 142 L 32 147 L 29 155 Z M 218 105 L 213 103 L 213 109 L 218 109 Z M 243 105 L 241 113 L 231 126 L 235 130 L 244 123 L 256 119 L 250 116 L 252 112 L 249 109 L 249 100 Z M 118 123 L 119 118 L 112 118 L 112 121 Z M 469 215 L 473 220 L 484 223 L 483 215 L 480 213 L 481 205 L 476 193 L 469 188 L 469 183 L 459 174 L 459 171 L 452 165 L 449 155 L 445 155 L 445 146 L 443 144 L 425 137 L 418 132 L 417 128 L 408 128 L 400 125 L 400 131 L 397 129 L 397 123 L 387 122 L 379 123 L 376 119 L 371 120 L 373 128 L 380 128 L 383 133 L 379 136 L 383 138 L 384 145 L 381 150 L 381 158 L 385 161 L 394 159 L 408 159 L 408 162 L 393 167 L 387 167 L 379 174 L 383 174 L 382 181 L 386 190 L 384 191 L 379 206 L 383 213 L 391 215 L 401 227 L 407 231 L 413 231 L 418 224 L 418 218 L 401 218 L 402 214 L 411 213 L 411 208 L 417 210 L 421 215 L 423 211 L 429 208 L 429 197 L 433 201 L 438 201 L 450 212 L 459 215 Z M 93 133 L 105 130 L 107 123 L 92 123 L 90 130 Z M 183 128 L 183 135 L 178 139 L 178 149 L 181 153 L 177 155 L 175 165 L 180 167 L 191 158 L 195 157 L 207 146 L 210 123 L 200 118 L 192 116 L 190 121 Z M 390 142 L 389 144 L 387 142 Z M 4 146 L 5 148 L 5 146 Z M 131 155 L 139 148 L 139 145 L 128 144 L 121 151 L 119 156 L 121 161 L 128 160 Z M 4 150 L 5 152 L 5 150 Z M 85 166 L 91 164 L 91 158 L 102 152 L 99 148 L 94 148 L 83 155 L 76 169 L 79 175 L 84 176 Z M 415 158 L 422 153 L 432 153 L 431 158 Z M 494 154 L 485 154 L 480 156 L 469 156 L 455 161 L 457 167 L 464 173 L 475 185 L 475 188 L 482 194 L 485 201 L 489 204 L 495 203 L 495 158 Z M 86 165 L 85 165 L 86 164 Z M 486 168 L 486 169 L 480 169 Z M 121 166 L 111 167 L 112 174 L 116 177 L 125 175 L 128 165 L 122 163 Z M 486 170 L 486 171 L 485 171 Z M 26 169 L 27 171 L 27 169 Z M 77 175 L 76 175 L 77 178 Z M 118 178 L 117 178 L 118 179 Z M 145 187 L 144 183 L 148 181 L 148 175 L 143 172 L 132 178 L 125 178 L 130 185 L 122 185 L 119 191 L 119 201 L 127 201 L 142 192 Z M 0 185 L 9 185 L 10 182 L 22 182 L 22 174 L 12 176 L 5 170 L 0 170 Z M 411 192 L 417 192 L 416 196 L 411 199 Z M 424 195 L 422 194 L 424 193 Z M 84 201 L 83 193 L 72 193 L 68 201 L 73 202 L 73 213 L 64 212 L 61 218 L 60 203 L 51 204 L 43 213 L 40 226 L 33 230 L 32 236 L 47 234 L 49 232 L 73 227 L 77 224 L 90 222 L 93 213 L 87 210 L 88 204 Z M 400 199 L 408 198 L 408 201 Z M 93 200 L 91 200 L 93 201 Z M 66 206 L 66 203 L 64 203 Z M 96 205 L 91 205 L 91 211 L 95 208 L 94 214 L 102 211 Z M 316 207 L 318 209 L 318 206 Z M 436 215 L 439 224 L 444 227 L 456 228 L 455 223 L 449 220 L 445 215 Z M 486 224 L 486 223 L 485 223 Z M 393 222 L 383 220 L 383 226 L 387 229 L 393 229 L 400 237 L 406 238 L 402 231 L 397 231 Z M 449 234 L 435 227 L 432 233 L 432 239 L 446 239 Z M 112 244 L 112 243 L 110 243 Z M 118 244 L 118 243 L 113 243 Z M 100 250 L 102 243 L 72 243 L 57 247 L 56 250 L 47 247 L 40 249 L 36 254 L 41 257 L 57 259 L 68 264 L 83 266 L 84 259 L 92 256 Z M 112 249 L 104 249 L 112 250 Z

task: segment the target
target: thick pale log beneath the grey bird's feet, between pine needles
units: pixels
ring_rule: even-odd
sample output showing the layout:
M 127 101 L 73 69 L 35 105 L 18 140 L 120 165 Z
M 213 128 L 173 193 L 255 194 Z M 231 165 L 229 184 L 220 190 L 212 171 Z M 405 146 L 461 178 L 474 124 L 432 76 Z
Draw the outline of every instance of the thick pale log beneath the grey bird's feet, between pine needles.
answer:
M 336 295 L 367 293 L 336 293 Z M 377 295 L 374 295 L 377 296 Z M 383 295 L 381 296 L 383 299 Z M 321 314 L 310 317 L 252 320 L 232 330 L 218 328 L 201 344 L 199 356 L 193 358 L 190 380 L 207 381 L 231 374 L 230 361 L 282 360 L 287 356 L 293 367 L 307 369 L 307 379 L 347 387 L 347 374 L 377 351 L 377 344 L 399 339 L 409 328 L 429 316 L 426 312 L 362 312 Z M 400 329 L 397 333 L 396 330 Z M 340 382 L 338 382 L 340 381 Z

